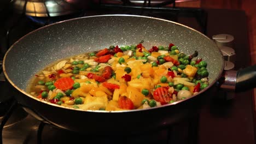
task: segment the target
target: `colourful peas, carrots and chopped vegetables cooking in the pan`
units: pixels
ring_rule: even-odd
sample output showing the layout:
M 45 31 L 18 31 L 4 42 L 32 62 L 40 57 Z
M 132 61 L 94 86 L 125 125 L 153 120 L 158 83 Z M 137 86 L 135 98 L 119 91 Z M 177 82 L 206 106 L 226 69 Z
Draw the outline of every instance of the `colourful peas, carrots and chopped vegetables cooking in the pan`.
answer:
M 186 99 L 208 86 L 207 62 L 178 46 L 109 46 L 62 59 L 38 73 L 35 97 L 83 110 L 132 110 Z

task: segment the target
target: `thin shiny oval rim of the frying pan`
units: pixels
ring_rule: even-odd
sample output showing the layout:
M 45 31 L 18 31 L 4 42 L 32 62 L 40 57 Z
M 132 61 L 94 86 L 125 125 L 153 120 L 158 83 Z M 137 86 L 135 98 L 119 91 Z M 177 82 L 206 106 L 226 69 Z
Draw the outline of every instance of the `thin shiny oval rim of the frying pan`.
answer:
M 77 18 L 74 18 L 74 19 L 59 21 L 59 22 L 51 23 L 50 25 L 46 25 L 46 26 L 40 27 L 40 28 L 35 29 L 34 31 L 30 32 L 30 33 L 27 33 L 26 35 L 24 35 L 23 37 L 21 37 L 19 40 L 15 41 L 15 43 L 14 43 L 13 45 L 11 45 L 10 48 L 7 50 L 7 52 L 5 53 L 4 58 L 3 58 L 3 73 L 4 73 L 5 77 L 6 77 L 6 79 L 11 83 L 11 85 L 12 85 L 14 88 L 18 89 L 18 91 L 21 92 L 22 94 L 25 94 L 27 97 L 30 97 L 30 98 L 32 98 L 32 99 L 34 99 L 34 100 L 37 100 L 37 101 L 39 101 L 39 102 L 41 102 L 41 103 L 45 103 L 45 104 L 48 104 L 48 105 L 51 105 L 51 106 L 55 106 L 55 107 L 59 107 L 59 108 L 65 108 L 65 109 L 68 109 L 68 110 L 83 111 L 83 112 L 99 112 L 99 113 L 120 113 L 120 112 L 121 112 L 121 113 L 123 113 L 123 112 L 141 112 L 141 111 L 144 111 L 144 110 L 161 109 L 162 107 L 174 106 L 174 105 L 176 105 L 176 104 L 182 103 L 183 101 L 187 101 L 187 100 L 189 100 L 189 99 L 192 99 L 192 98 L 196 97 L 197 95 L 200 95 L 201 93 L 207 91 L 207 89 L 211 88 L 211 87 L 214 85 L 214 83 L 217 82 L 217 80 L 220 78 L 220 76 L 221 76 L 222 73 L 223 73 L 223 70 L 224 70 L 224 57 L 221 55 L 221 56 L 222 56 L 222 67 L 221 67 L 221 70 L 219 71 L 219 74 L 217 75 L 217 78 L 214 79 L 214 80 L 210 83 L 210 85 L 209 85 L 207 88 L 203 89 L 203 90 L 200 91 L 199 93 L 196 93 L 196 94 L 192 95 L 191 97 L 189 97 L 189 98 L 187 98 L 187 99 L 183 99 L 183 100 L 176 101 L 176 102 L 174 102 L 174 103 L 172 103 L 172 104 L 166 104 L 166 105 L 161 105 L 161 106 L 156 106 L 156 107 L 150 107 L 149 109 L 122 110 L 122 111 L 82 110 L 82 109 L 74 109 L 73 107 L 66 107 L 66 106 L 61 106 L 61 105 L 52 104 L 52 103 L 50 103 L 50 102 L 48 102 L 48 101 L 40 100 L 40 99 L 38 99 L 38 98 L 36 98 L 36 97 L 33 97 L 33 95 L 31 95 L 31 94 L 27 93 L 26 91 L 22 90 L 21 88 L 19 88 L 18 86 L 16 86 L 13 81 L 11 81 L 11 80 L 9 79 L 9 76 L 8 76 L 8 74 L 6 73 L 6 69 L 5 69 L 5 59 L 7 58 L 7 55 L 8 55 L 8 53 L 11 51 L 11 49 L 13 49 L 13 47 L 14 47 L 16 44 L 18 44 L 19 41 L 21 41 L 22 39 L 26 38 L 27 35 L 30 35 L 30 34 L 32 34 L 32 33 L 35 33 L 35 32 L 37 32 L 37 31 L 40 31 L 40 29 L 44 29 L 44 28 L 50 27 L 50 26 L 52 26 L 52 25 L 59 25 L 60 23 L 63 23 L 63 22 L 74 21 L 74 20 L 79 20 L 79 19 L 86 19 L 86 18 L 90 18 L 90 17 L 105 17 L 105 16 L 143 17 L 143 18 L 147 18 L 147 19 L 155 19 L 155 20 L 160 20 L 160 21 L 171 22 L 171 23 L 174 23 L 175 25 L 183 26 L 183 27 L 185 27 L 185 28 L 190 29 L 191 31 L 195 31 L 195 32 L 197 32 L 197 33 L 203 35 L 203 37 L 205 37 L 206 39 L 211 40 L 211 39 L 208 38 L 205 34 L 203 34 L 203 33 L 199 32 L 199 31 L 197 31 L 197 30 L 194 29 L 194 28 L 191 28 L 191 27 L 189 27 L 189 26 L 182 25 L 181 23 L 178 23 L 178 22 L 174 22 L 174 21 L 170 21 L 170 20 L 165 20 L 165 19 L 160 19 L 160 18 L 156 18 L 156 17 L 141 16 L 141 15 L 127 15 L 127 14 L 94 15 L 94 16 L 77 17 Z M 211 41 L 212 41 L 212 40 L 211 40 Z M 213 41 L 212 41 L 212 43 L 213 43 L 216 47 L 218 47 Z M 221 53 L 219 49 L 218 49 L 218 51 L 219 51 L 219 53 Z

